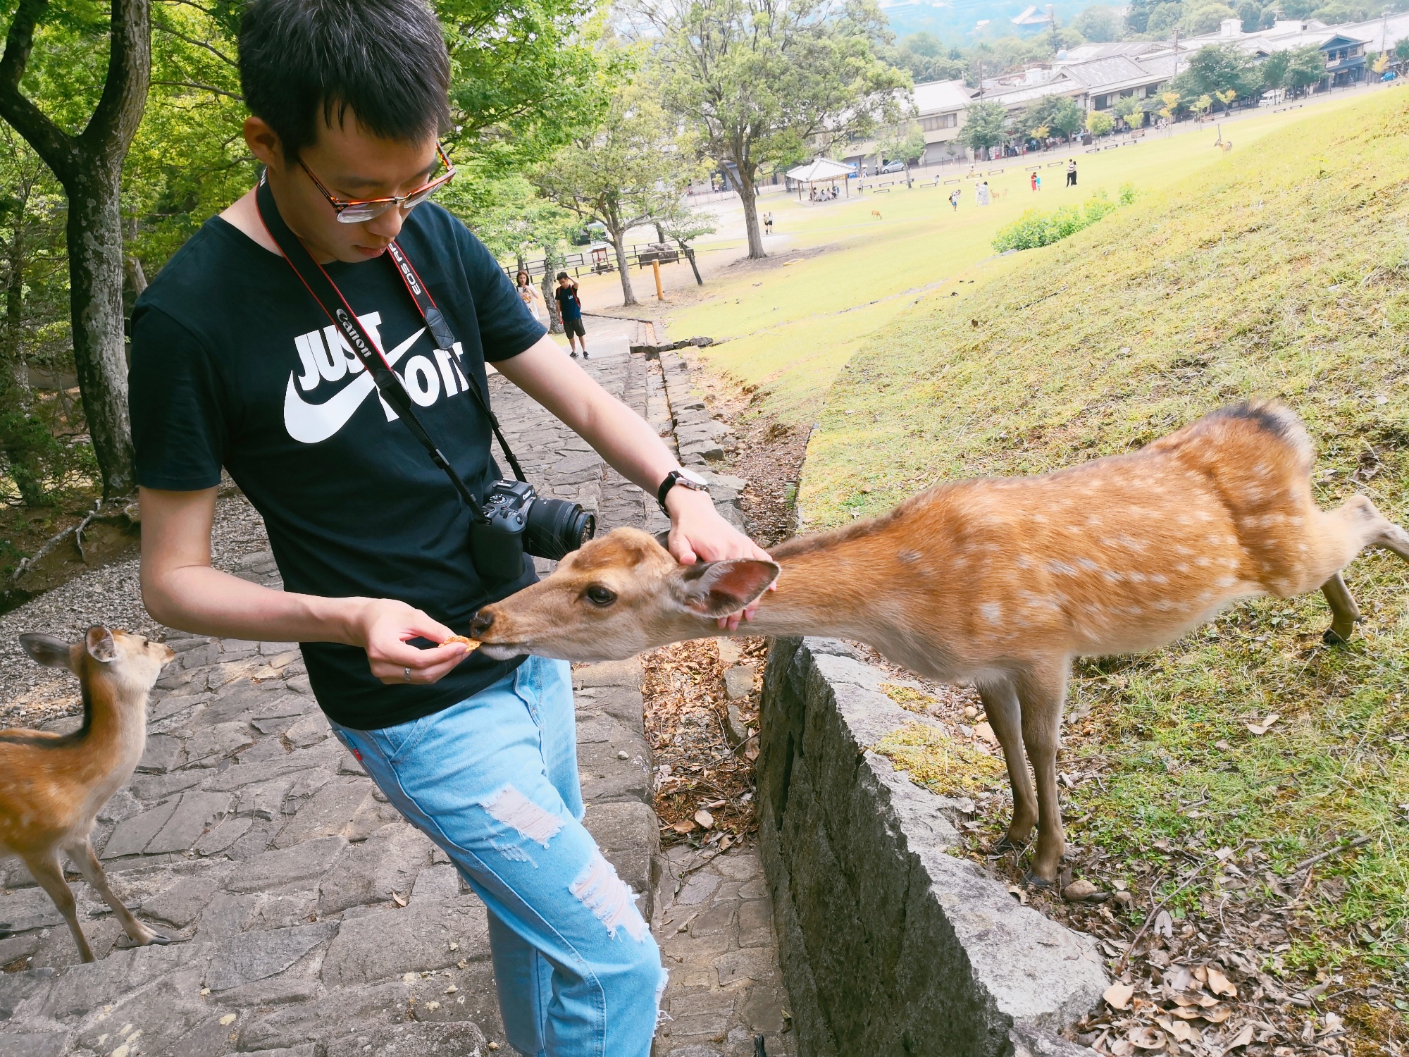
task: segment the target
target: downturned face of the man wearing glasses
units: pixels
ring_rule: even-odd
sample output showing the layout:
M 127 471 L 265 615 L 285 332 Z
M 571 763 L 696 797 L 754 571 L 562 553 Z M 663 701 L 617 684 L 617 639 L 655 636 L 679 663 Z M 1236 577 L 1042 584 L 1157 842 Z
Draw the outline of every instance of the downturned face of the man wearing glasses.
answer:
M 271 186 L 285 223 L 316 259 L 355 264 L 380 256 L 400 233 L 406 213 L 392 207 L 361 224 L 341 224 L 304 166 L 342 202 L 410 194 L 424 186 L 435 169 L 435 137 L 420 142 L 383 140 L 365 131 L 351 110 L 341 121 L 334 110 L 334 124 L 318 124 L 317 142 L 303 148 L 299 159 L 285 158 L 278 137 L 256 117 L 245 121 L 245 138 L 269 166 Z M 273 137 L 272 142 L 259 135 L 261 130 Z

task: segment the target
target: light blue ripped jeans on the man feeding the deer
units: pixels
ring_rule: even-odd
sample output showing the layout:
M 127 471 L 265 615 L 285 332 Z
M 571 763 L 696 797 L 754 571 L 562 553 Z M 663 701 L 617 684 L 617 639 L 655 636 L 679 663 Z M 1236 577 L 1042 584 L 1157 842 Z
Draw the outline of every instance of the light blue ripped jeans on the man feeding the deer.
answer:
M 489 909 L 509 1043 L 527 1057 L 647 1057 L 661 953 L 582 826 L 572 682 L 530 657 L 473 698 L 382 730 L 333 724 Z

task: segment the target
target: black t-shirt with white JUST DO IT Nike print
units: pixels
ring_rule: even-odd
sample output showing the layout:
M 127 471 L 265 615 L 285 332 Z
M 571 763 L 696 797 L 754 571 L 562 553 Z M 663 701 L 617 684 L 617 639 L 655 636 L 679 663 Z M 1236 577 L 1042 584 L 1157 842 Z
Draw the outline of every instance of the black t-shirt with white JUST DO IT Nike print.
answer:
M 542 337 L 489 251 L 426 203 L 397 238 L 458 338 L 434 348 L 390 259 L 328 275 L 402 375 L 417 413 L 476 495 L 499 476 L 485 361 Z M 469 512 L 375 392 L 289 264 L 214 217 L 180 248 L 132 313 L 132 437 L 147 488 L 196 490 L 224 465 L 265 519 L 287 591 L 402 599 L 465 633 L 475 610 L 534 581 L 490 586 L 475 572 Z M 313 692 L 358 730 L 406 723 L 479 692 L 517 661 L 473 654 L 431 686 L 386 686 L 366 654 L 303 643 Z

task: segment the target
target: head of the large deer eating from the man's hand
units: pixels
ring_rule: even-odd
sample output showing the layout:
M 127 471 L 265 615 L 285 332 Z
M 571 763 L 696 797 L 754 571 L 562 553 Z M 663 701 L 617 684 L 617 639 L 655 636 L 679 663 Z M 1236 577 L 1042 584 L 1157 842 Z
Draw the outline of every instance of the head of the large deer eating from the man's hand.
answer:
M 614 661 L 719 634 L 778 578 L 771 561 L 681 565 L 654 537 L 617 528 L 573 551 L 544 581 L 485 606 L 471 634 L 496 660 L 520 654 Z

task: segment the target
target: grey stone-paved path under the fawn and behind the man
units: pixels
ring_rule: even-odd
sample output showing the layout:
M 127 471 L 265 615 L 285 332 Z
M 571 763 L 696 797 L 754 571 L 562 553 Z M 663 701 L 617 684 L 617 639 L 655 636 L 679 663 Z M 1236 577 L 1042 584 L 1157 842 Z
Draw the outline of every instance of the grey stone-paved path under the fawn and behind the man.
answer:
M 671 431 L 658 366 L 619 354 L 588 369 Z M 603 530 L 665 526 L 586 443 L 502 379 L 493 388 L 535 483 L 595 509 Z M 278 585 L 268 552 L 240 575 Z M 100 813 L 94 846 L 118 895 L 176 943 L 130 948 L 73 875 L 99 957 L 79 965 L 48 898 L 23 865 L 0 863 L 0 1057 L 507 1053 L 483 906 L 330 736 L 296 645 L 165 637 L 179 655 L 154 693 L 147 753 Z M 757 855 L 710 863 L 676 894 L 689 865 L 658 855 L 640 661 L 579 667 L 573 685 L 586 824 L 643 894 L 676 968 L 675 1020 L 657 1049 L 745 1053 L 738 1039 L 772 1030 L 781 994 Z M 696 901 L 706 912 L 686 922 L 679 910 L 713 877 Z M 737 933 L 720 940 L 710 929 L 726 919 Z

